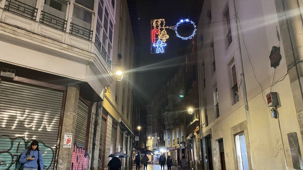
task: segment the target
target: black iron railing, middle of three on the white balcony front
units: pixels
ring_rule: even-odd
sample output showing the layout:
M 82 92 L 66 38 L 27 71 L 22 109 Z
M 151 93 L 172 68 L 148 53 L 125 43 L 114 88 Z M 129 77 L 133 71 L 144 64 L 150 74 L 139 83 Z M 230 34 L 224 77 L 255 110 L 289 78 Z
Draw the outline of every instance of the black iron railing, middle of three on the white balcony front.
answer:
M 55 15 L 49 14 L 47 12 L 41 11 L 41 16 L 39 21 L 49 26 L 58 28 L 62 31 L 66 31 L 67 21 Z

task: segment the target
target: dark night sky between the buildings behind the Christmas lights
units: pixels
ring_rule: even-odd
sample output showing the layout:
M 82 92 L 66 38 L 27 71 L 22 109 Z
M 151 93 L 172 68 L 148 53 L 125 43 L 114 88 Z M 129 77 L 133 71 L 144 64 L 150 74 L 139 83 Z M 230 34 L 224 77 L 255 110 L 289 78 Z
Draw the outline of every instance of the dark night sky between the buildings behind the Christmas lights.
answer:
M 166 29 L 169 38 L 165 53 L 151 54 L 151 19 L 165 19 L 165 25 L 175 26 L 180 19 L 188 18 L 191 3 L 192 0 L 137 0 L 142 51 L 135 105 L 145 107 L 166 78 L 180 67 L 178 51 L 180 42 L 185 41 L 176 37 L 174 30 Z

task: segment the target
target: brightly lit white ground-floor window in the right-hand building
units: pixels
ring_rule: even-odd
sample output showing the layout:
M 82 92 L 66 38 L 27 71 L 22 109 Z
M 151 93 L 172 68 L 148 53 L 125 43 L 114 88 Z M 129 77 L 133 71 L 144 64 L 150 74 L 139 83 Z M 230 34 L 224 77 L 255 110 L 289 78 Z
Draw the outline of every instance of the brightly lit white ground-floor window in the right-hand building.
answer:
M 248 158 L 246 152 L 246 143 L 244 133 L 235 136 L 236 155 L 238 160 L 238 169 L 248 170 Z

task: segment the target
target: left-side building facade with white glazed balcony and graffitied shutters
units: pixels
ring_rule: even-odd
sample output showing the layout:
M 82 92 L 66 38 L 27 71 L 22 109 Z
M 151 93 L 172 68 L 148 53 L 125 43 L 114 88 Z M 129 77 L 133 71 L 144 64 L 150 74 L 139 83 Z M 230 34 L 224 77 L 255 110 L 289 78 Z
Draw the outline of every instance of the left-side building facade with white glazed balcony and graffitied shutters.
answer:
M 127 70 L 135 44 L 126 0 L 0 6 L 0 167 L 18 168 L 33 139 L 45 169 L 107 169 L 110 153 L 132 153 L 134 75 Z M 118 83 L 116 65 L 125 72 Z

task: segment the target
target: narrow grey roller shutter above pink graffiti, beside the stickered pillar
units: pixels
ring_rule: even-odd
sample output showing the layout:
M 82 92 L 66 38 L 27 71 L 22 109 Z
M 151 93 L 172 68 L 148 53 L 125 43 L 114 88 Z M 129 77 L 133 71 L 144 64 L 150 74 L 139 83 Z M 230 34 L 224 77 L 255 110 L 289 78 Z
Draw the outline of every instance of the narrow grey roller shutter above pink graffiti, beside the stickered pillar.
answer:
M 88 122 L 89 106 L 79 99 L 76 127 L 75 127 L 75 138 L 74 141 L 78 146 L 86 145 L 86 131 Z

